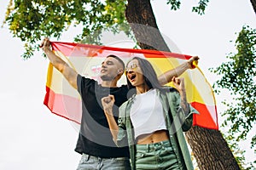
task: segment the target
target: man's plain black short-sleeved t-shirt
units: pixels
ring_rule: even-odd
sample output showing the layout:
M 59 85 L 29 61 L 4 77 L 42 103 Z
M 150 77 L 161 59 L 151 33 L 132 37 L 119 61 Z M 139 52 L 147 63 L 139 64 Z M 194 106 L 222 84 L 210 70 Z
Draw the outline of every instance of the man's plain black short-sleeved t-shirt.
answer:
M 108 121 L 102 110 L 102 97 L 112 94 L 114 118 L 118 120 L 118 109 L 127 100 L 128 88 L 105 88 L 90 78 L 78 75 L 77 85 L 82 98 L 82 120 L 76 151 L 90 156 L 128 157 L 128 147 L 118 148 L 108 127 Z

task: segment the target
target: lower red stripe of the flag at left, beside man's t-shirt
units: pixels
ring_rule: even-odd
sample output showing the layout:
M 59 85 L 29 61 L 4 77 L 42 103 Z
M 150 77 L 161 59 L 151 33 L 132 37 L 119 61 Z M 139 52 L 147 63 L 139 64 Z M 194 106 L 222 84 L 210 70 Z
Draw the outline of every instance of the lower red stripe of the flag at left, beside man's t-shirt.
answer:
M 55 115 L 62 116 L 67 120 L 80 123 L 82 116 L 81 100 L 64 94 L 55 94 L 46 87 L 44 105 Z

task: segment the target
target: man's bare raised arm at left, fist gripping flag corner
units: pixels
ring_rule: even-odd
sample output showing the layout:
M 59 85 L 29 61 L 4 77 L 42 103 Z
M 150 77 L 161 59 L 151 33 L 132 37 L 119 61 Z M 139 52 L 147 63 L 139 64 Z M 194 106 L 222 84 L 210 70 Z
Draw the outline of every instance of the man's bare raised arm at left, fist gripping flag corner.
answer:
M 69 82 L 73 88 L 78 89 L 77 71 L 73 70 L 73 68 L 67 65 L 67 63 L 63 59 L 55 55 L 49 46 L 49 39 L 44 38 L 43 42 L 40 45 L 40 48 L 43 48 L 44 54 L 46 54 L 46 56 L 48 57 L 49 62 L 55 67 L 55 69 L 61 72 L 61 74 L 67 79 L 67 82 Z

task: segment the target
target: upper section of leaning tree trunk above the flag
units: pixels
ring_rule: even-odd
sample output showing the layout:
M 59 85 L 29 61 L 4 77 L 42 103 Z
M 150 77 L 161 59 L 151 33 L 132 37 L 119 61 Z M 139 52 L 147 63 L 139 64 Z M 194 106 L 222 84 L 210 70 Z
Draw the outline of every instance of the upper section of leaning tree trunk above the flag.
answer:
M 125 17 L 141 48 L 170 51 L 156 25 L 150 0 L 128 0 Z

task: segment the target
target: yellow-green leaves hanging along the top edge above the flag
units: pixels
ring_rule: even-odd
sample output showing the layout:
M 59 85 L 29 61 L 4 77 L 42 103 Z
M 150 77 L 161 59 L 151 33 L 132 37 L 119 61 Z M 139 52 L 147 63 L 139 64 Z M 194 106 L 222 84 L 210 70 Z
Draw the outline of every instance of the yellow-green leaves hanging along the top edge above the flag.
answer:
M 167 0 L 171 8 L 180 8 L 179 0 Z M 83 30 L 74 37 L 75 42 L 101 44 L 102 31 L 118 33 L 125 31 L 132 37 L 131 28 L 125 20 L 127 1 L 113 0 L 10 0 L 3 24 L 9 25 L 14 37 L 25 42 L 23 58 L 28 59 L 38 50 L 42 37 L 59 39 L 69 26 L 81 26 Z M 203 14 L 208 0 L 200 0 L 193 11 Z

